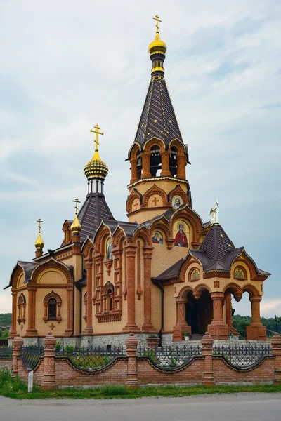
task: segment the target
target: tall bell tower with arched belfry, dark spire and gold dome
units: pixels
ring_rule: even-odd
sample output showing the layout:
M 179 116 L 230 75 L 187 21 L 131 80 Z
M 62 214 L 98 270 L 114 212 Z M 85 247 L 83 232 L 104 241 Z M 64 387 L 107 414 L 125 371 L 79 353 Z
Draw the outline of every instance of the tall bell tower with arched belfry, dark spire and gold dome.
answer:
M 166 44 L 159 36 L 159 16 L 155 39 L 148 47 L 152 61 L 148 93 L 143 105 L 133 145 L 129 150 L 131 180 L 126 202 L 129 222 L 142 223 L 191 203 L 186 180 L 188 145 L 183 143 L 164 73 Z

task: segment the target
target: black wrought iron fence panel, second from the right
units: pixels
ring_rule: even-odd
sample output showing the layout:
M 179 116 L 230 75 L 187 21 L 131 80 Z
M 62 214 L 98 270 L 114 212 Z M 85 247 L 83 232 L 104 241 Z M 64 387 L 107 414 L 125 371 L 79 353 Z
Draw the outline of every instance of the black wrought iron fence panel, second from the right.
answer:
M 138 357 L 147 357 L 155 366 L 166 371 L 177 370 L 195 356 L 202 356 L 200 345 L 191 347 L 138 348 Z

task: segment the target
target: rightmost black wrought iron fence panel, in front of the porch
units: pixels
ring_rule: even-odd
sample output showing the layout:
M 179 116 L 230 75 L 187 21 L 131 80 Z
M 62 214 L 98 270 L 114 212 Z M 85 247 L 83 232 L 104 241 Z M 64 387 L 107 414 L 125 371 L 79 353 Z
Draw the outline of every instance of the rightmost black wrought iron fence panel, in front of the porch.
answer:
M 213 356 L 223 356 L 237 368 L 256 366 L 264 356 L 272 356 L 270 344 L 262 345 L 214 345 Z

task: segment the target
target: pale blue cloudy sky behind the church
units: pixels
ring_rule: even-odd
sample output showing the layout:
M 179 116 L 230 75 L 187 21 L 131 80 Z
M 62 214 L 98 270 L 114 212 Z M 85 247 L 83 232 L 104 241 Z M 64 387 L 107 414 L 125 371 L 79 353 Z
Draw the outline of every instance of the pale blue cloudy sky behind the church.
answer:
M 166 80 L 190 149 L 193 208 L 219 222 L 272 275 L 263 316 L 281 316 L 281 2 L 278 0 L 0 0 L 0 313 L 17 260 L 32 260 L 37 218 L 47 248 L 63 239 L 84 164 L 100 156 L 105 194 L 126 220 L 125 162 L 150 79 L 152 15 L 162 18 Z M 236 312 L 250 314 L 245 296 Z

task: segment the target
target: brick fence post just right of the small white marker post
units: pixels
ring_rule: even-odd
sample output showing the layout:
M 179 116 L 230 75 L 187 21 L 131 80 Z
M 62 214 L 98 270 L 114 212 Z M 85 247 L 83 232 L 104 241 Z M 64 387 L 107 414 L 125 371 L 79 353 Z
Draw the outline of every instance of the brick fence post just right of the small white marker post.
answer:
M 55 342 L 56 339 L 51 332 L 44 338 L 44 376 L 42 389 L 55 389 Z

